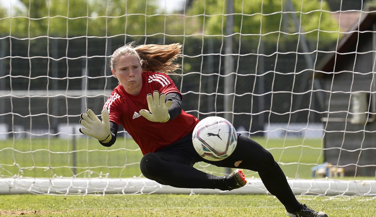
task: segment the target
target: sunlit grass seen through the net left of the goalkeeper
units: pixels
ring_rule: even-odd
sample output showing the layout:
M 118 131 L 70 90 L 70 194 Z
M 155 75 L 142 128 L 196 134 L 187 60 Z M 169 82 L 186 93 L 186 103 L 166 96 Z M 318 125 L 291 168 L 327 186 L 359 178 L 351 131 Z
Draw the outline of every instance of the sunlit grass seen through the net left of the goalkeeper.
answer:
M 138 163 L 141 157 L 132 139 L 119 138 L 110 148 L 91 138 L 77 139 L 75 145 L 73 140 L 61 139 L 7 140 L 0 148 L 0 175 L 133 177 L 141 175 Z

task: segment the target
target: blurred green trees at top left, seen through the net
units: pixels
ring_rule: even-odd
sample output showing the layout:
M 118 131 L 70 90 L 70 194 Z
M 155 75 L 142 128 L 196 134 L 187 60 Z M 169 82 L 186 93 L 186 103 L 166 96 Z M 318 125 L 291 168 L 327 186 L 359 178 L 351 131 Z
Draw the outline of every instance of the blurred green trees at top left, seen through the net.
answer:
M 17 37 L 152 35 L 160 30 L 155 23 L 164 19 L 162 15 L 155 15 L 158 9 L 155 0 L 22 2 L 26 10 L 18 10 L 15 17 L 2 20 L 3 31 L 8 33 L 11 30 Z

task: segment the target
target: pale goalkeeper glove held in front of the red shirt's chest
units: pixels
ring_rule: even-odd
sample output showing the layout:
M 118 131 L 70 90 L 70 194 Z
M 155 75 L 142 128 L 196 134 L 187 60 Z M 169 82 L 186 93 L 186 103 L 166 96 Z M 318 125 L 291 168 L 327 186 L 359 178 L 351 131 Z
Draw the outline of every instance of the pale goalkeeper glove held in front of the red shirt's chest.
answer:
M 140 115 L 144 116 L 149 121 L 153 122 L 167 122 L 170 120 L 170 114 L 168 114 L 168 109 L 171 107 L 172 99 L 167 99 L 165 102 L 166 95 L 161 93 L 159 95 L 158 90 L 153 92 L 153 95 L 150 93 L 146 96 L 147 105 L 149 110 L 141 109 L 139 111 Z

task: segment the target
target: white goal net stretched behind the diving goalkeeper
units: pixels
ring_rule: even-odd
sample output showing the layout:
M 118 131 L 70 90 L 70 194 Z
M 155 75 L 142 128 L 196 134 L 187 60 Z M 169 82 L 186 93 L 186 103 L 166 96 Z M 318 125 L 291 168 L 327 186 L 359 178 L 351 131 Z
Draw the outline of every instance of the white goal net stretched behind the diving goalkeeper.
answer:
M 248 170 L 233 191 L 160 185 L 121 126 L 110 148 L 79 133 L 118 84 L 112 52 L 138 41 L 181 43 L 183 109 L 259 142 L 294 193 L 375 196 L 376 11 L 332 2 L 2 1 L 0 193 L 268 193 Z

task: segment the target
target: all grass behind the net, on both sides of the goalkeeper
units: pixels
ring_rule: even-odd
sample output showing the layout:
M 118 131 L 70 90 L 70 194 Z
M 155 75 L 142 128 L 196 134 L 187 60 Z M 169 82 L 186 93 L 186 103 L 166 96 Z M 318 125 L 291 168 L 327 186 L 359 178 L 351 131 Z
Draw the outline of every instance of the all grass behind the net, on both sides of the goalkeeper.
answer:
M 321 140 L 252 138 L 267 148 L 290 178 L 312 178 L 311 167 L 323 163 Z M 118 138 L 110 148 L 97 140 L 22 139 L 5 140 L 0 146 L 0 178 L 14 175 L 51 178 L 129 178 L 142 177 L 139 161 L 142 153 L 132 139 Z M 75 165 L 75 168 L 73 167 Z M 196 168 L 215 175 L 225 174 L 220 167 L 198 163 Z M 258 173 L 245 171 L 247 177 Z M 350 177 L 350 179 L 354 177 Z M 370 177 L 373 179 L 374 177 Z M 363 178 L 369 179 L 369 178 Z

